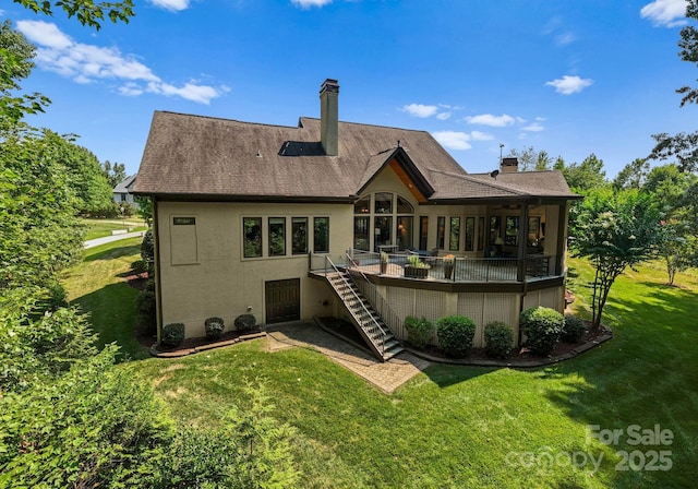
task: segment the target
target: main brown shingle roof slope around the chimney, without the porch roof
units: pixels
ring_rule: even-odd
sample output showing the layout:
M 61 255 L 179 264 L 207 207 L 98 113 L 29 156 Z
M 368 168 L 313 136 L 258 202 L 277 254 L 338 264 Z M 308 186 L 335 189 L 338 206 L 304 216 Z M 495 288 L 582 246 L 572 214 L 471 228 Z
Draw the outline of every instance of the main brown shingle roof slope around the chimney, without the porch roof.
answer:
M 339 122 L 339 156 L 333 157 L 317 146 L 318 119 L 280 127 L 157 111 L 135 192 L 349 198 L 398 141 L 425 174 L 425 163 L 465 172 L 424 131 Z

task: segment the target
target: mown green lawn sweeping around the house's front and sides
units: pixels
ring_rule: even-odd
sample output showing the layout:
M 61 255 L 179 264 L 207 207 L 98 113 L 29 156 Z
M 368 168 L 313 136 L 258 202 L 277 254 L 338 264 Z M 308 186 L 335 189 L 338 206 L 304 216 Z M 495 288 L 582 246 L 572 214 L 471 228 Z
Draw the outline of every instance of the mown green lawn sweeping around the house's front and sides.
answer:
M 135 258 L 133 242 L 108 246 L 68 284 L 103 342 L 142 358 L 128 325 L 135 291 L 118 287 Z M 583 312 L 592 270 L 570 265 Z M 201 426 L 244 407 L 245 381 L 264 383 L 275 415 L 299 429 L 302 487 L 693 487 L 698 276 L 679 275 L 681 288 L 665 281 L 654 263 L 619 277 L 604 313 L 614 339 L 574 360 L 526 371 L 433 365 L 392 395 L 310 349 L 267 353 L 264 339 L 121 368 L 151 382 L 174 419 Z M 605 445 L 589 426 L 622 433 Z M 671 444 L 633 444 L 634 430 L 655 426 Z

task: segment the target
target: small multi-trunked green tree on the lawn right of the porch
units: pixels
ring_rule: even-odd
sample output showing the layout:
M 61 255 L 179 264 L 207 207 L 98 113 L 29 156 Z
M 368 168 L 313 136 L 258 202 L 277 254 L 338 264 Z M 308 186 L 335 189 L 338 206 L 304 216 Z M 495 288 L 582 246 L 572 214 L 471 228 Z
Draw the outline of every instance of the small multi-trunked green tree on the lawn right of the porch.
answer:
M 651 259 L 660 237 L 661 213 L 649 193 L 600 188 L 585 198 L 570 249 L 591 261 L 592 324 L 601 324 L 603 308 L 615 279 L 627 267 Z

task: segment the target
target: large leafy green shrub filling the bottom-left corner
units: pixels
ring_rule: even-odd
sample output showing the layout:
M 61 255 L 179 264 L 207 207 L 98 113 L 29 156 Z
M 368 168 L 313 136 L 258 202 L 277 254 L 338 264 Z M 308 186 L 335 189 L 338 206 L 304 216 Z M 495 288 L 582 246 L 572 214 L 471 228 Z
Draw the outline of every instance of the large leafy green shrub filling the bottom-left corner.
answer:
M 152 487 L 171 424 L 149 384 L 113 367 L 117 350 L 0 397 L 0 487 Z

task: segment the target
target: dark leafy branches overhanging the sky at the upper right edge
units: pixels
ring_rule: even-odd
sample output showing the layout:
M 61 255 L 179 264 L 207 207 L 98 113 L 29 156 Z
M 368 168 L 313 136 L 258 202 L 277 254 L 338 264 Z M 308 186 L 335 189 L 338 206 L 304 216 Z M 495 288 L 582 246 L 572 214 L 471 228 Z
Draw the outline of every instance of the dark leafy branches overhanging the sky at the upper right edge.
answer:
M 689 24 L 681 29 L 681 40 L 678 41 L 678 57 L 683 61 L 698 64 L 698 0 L 687 0 L 686 19 Z M 698 87 L 684 85 L 676 91 L 683 95 L 681 107 L 686 104 L 698 103 Z M 652 159 L 676 158 L 678 168 L 682 171 L 698 170 L 698 131 L 679 132 L 674 135 L 669 133 L 653 134 L 657 145 L 650 154 Z

